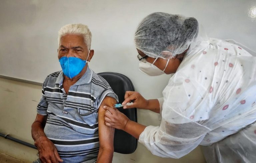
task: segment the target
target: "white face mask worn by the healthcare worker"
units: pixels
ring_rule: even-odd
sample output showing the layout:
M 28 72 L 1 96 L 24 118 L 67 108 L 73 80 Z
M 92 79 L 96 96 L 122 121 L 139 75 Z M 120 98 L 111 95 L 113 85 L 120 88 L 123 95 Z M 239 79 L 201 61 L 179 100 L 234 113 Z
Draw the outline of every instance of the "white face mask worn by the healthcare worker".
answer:
M 158 67 L 156 67 L 154 65 L 154 63 L 156 62 L 157 58 L 155 59 L 155 61 L 153 62 L 153 64 L 149 63 L 149 62 L 140 62 L 139 64 L 139 70 L 143 73 L 146 74 L 148 76 L 159 76 L 162 74 L 165 74 L 164 71 L 169 63 L 169 60 L 167 61 L 164 70 L 160 70 Z

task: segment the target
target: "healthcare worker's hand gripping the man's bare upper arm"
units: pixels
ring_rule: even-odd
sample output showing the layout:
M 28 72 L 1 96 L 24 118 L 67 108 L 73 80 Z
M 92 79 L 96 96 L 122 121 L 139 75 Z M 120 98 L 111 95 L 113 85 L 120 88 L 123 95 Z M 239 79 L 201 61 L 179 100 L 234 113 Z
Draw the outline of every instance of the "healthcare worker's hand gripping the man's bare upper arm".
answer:
M 109 106 L 103 106 L 103 108 L 107 110 L 104 117 L 106 126 L 124 130 L 125 125 L 130 119 L 117 108 Z

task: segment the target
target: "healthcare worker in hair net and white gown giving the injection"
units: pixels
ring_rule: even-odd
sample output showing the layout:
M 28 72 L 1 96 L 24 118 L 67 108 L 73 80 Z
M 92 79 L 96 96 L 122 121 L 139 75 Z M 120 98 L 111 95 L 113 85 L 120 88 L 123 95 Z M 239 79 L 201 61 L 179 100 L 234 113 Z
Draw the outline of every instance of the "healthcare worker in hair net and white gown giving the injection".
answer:
M 124 109 L 160 113 L 161 125 L 146 127 L 107 106 L 105 124 L 160 157 L 180 158 L 203 145 L 207 162 L 255 162 L 256 57 L 232 40 L 204 40 L 199 31 L 195 18 L 160 12 L 145 17 L 134 39 L 139 70 L 173 75 L 163 98 L 127 91 L 123 104 L 133 101 Z

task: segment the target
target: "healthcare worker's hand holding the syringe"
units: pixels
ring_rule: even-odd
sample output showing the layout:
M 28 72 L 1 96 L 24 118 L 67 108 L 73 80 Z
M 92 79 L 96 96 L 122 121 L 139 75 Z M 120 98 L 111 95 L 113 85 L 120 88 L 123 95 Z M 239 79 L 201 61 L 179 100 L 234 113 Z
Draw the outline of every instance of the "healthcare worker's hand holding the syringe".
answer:
M 127 102 L 131 102 L 133 100 L 132 105 L 124 106 L 123 108 L 141 108 L 141 109 L 147 109 L 149 101 L 146 100 L 139 92 L 135 91 L 126 91 L 124 95 L 124 102 L 122 105 L 125 105 Z

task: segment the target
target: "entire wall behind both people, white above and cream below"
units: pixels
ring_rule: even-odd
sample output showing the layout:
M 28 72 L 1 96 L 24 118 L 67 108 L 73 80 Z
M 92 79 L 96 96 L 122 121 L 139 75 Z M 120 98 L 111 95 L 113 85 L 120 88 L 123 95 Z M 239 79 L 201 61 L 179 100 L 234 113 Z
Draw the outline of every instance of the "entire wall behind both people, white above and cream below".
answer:
M 57 32 L 69 23 L 87 24 L 95 55 L 89 63 L 96 73 L 128 76 L 145 98 L 161 97 L 169 76 L 147 77 L 138 71 L 133 35 L 152 12 L 195 17 L 209 37 L 234 39 L 256 51 L 255 0 L 2 0 L 0 5 L 0 75 L 43 82 L 60 70 Z M 256 10 L 256 9 L 255 9 Z M 255 17 L 254 17 L 255 16 Z M 41 86 L 0 79 L 0 132 L 33 143 L 30 126 L 36 115 Z M 158 125 L 153 112 L 138 110 L 138 121 Z M 26 161 L 36 150 L 0 138 L 0 152 Z M 133 161 L 135 160 L 135 161 Z M 114 155 L 113 162 L 204 162 L 199 148 L 181 159 L 151 155 L 145 147 L 131 155 Z

